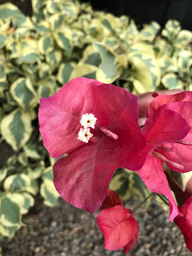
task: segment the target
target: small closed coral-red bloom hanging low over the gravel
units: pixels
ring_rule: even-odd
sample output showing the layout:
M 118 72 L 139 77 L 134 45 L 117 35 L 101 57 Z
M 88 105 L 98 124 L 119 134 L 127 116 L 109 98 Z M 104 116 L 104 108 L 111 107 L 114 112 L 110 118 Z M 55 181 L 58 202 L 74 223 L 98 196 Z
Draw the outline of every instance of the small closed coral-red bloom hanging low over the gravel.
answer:
M 104 248 L 118 250 L 124 247 L 123 252 L 128 252 L 138 239 L 138 222 L 131 211 L 122 206 L 122 200 L 113 190 L 107 191 L 102 209 L 97 221 L 105 238 Z

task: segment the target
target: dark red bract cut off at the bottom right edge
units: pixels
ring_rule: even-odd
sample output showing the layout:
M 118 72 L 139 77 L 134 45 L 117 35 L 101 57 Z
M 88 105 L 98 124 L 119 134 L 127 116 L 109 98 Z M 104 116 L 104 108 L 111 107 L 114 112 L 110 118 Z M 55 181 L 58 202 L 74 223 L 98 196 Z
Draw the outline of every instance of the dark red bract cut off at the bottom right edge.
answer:
M 192 197 L 179 209 L 179 215 L 174 218 L 174 222 L 182 231 L 187 248 L 192 251 Z

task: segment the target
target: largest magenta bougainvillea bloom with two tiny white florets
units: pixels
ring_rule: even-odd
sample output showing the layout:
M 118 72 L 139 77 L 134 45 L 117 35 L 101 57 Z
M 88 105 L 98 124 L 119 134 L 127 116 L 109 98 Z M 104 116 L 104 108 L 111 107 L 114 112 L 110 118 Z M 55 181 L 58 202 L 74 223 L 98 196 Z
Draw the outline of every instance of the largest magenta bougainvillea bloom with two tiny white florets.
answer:
M 135 162 L 146 140 L 138 126 L 137 97 L 88 78 L 75 78 L 40 99 L 42 141 L 54 164 L 54 185 L 71 205 L 93 213 L 106 197 L 114 171 Z

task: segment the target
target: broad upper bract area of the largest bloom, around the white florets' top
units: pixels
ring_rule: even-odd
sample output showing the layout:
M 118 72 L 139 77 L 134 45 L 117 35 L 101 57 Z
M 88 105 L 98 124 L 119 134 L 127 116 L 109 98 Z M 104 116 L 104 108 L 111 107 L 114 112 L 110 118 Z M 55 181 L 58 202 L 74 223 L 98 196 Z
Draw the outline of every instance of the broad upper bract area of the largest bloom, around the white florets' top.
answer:
M 133 153 L 137 154 L 145 146 L 145 138 L 138 126 L 135 95 L 93 79 L 74 78 L 50 98 L 40 100 L 40 132 L 51 157 L 59 158 L 85 146 L 77 138 L 82 115 L 86 113 L 94 114 L 98 128 L 106 127 L 118 134 L 118 138 L 128 131 L 126 136 L 130 136 Z

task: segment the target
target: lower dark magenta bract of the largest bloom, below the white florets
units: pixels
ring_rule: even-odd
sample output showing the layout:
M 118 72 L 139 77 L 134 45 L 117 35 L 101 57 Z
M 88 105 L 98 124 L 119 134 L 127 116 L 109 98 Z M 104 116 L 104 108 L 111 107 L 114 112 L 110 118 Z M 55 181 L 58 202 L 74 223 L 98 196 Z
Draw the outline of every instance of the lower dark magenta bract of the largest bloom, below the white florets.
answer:
M 119 155 L 90 142 L 54 164 L 54 186 L 66 202 L 92 214 L 105 199 L 119 165 Z

